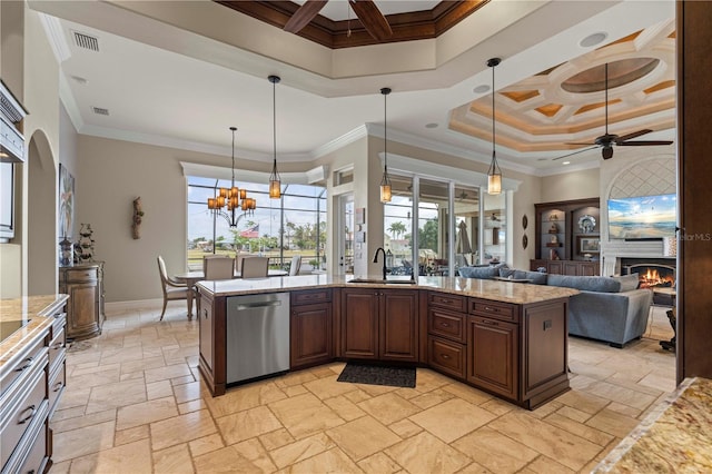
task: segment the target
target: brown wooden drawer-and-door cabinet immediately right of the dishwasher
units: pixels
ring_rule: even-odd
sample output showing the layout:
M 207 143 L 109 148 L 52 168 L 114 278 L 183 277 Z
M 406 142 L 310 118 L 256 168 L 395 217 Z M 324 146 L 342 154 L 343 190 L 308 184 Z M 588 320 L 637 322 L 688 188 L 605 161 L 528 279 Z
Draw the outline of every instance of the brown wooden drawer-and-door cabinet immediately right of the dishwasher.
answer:
M 334 358 L 332 290 L 291 293 L 289 368 L 326 364 Z

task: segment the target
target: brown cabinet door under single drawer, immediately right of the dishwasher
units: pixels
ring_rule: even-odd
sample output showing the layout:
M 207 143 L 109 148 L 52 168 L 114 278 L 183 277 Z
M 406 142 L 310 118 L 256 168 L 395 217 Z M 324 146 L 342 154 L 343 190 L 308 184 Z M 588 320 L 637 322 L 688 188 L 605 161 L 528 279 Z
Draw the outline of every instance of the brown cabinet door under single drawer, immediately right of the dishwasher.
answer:
M 332 303 L 293 307 L 289 347 L 291 369 L 332 361 Z

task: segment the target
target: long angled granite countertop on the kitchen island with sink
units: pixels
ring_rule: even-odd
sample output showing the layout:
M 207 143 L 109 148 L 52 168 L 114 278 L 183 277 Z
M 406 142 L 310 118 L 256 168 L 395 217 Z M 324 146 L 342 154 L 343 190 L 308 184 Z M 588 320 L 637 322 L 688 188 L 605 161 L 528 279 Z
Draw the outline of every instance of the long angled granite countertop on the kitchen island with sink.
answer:
M 369 276 L 379 279 L 379 276 Z M 314 289 L 317 287 L 338 288 L 394 288 L 433 289 L 463 296 L 491 299 L 513 304 L 531 304 L 577 295 L 577 289 L 546 285 L 496 282 L 463 277 L 418 277 L 416 284 L 348 283 L 353 277 L 340 275 L 300 275 L 270 278 L 235 278 L 217 282 L 199 282 L 198 285 L 215 296 L 250 295 L 283 290 Z M 394 278 L 396 279 L 396 278 Z M 400 277 L 400 279 L 404 279 Z M 405 278 L 407 280 L 407 278 Z

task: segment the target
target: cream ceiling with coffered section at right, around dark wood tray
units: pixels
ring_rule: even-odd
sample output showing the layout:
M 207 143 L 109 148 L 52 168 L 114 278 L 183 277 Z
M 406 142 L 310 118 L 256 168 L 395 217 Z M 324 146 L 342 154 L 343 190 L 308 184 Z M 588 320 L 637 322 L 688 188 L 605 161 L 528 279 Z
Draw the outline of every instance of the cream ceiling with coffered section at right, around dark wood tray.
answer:
M 646 128 L 655 131 L 645 139 L 674 138 L 672 0 L 375 1 L 387 18 L 425 11 L 428 21 L 447 6 L 473 8 L 458 7 L 447 28 L 423 39 L 338 48 L 221 3 L 28 0 L 60 61 L 62 103 L 79 134 L 222 155 L 226 166 L 230 126 L 240 159 L 271 160 L 269 75 L 281 77 L 279 161 L 312 161 L 364 126 L 383 134 L 379 89 L 390 87 L 389 139 L 488 162 L 486 61 L 495 56 L 503 58 L 495 98 L 505 169 L 558 172 L 562 161 L 552 158 L 577 149 L 566 142 L 603 134 L 596 83 L 606 62 L 625 66 L 612 68 L 611 132 Z M 320 14 L 340 24 L 347 7 L 329 0 Z M 600 42 L 586 42 L 592 36 Z M 597 166 L 600 154 L 572 161 Z

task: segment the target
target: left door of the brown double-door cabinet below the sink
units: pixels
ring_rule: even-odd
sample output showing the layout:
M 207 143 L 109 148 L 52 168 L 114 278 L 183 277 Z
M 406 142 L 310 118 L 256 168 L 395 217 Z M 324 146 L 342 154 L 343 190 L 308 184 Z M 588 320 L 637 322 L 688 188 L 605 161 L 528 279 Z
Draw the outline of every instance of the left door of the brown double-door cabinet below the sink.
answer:
M 350 358 L 378 357 L 378 302 L 374 289 L 342 293 L 342 354 Z

